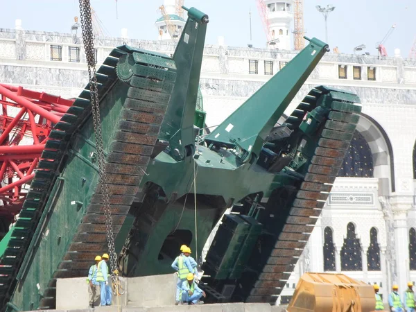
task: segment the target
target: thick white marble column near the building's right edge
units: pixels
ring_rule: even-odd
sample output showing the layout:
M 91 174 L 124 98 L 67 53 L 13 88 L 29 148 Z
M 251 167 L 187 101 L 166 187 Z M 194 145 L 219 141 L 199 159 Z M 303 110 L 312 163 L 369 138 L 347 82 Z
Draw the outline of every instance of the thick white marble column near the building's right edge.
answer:
M 408 229 L 407 229 L 407 211 L 393 211 L 395 227 L 395 254 L 397 265 L 397 281 L 392 281 L 399 285 L 399 291 L 406 289 L 408 281 L 407 268 L 409 251 L 408 251 Z

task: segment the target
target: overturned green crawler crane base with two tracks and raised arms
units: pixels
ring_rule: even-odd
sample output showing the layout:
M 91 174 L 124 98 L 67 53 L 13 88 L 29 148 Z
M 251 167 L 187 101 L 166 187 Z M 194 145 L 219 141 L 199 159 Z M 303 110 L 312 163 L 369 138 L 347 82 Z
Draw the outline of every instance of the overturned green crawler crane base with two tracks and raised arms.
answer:
M 172 272 L 180 245 L 198 258 L 223 218 L 203 265 L 207 300 L 272 302 L 331 190 L 359 98 L 316 87 L 276 125 L 328 49 L 313 38 L 196 144 L 205 126 L 198 84 L 209 19 L 185 9 L 173 58 L 121 46 L 98 70 L 119 270 L 130 277 Z M 87 85 L 51 132 L 44 158 L 53 161 L 40 162 L 8 257 L 0 259 L 3 310 L 52 308 L 56 278 L 85 276 L 106 251 L 89 105 Z M 223 217 L 233 205 L 235 214 Z M 19 264 L 10 262 L 13 252 Z

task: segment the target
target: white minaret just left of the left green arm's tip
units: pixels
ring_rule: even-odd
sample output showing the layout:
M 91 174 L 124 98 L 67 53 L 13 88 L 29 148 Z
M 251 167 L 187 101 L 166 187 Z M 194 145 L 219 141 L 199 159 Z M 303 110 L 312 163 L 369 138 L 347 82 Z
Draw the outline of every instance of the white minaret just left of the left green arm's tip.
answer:
M 166 21 L 164 17 L 159 17 L 155 22 L 155 26 L 157 27 L 157 31 L 159 32 L 159 40 L 166 40 L 172 41 L 177 40 L 182 33 L 182 29 L 185 26 L 185 20 L 182 16 L 178 16 L 176 12 L 175 0 L 164 0 L 163 3 L 164 11 L 166 15 L 169 17 L 169 24 L 171 24 L 173 38 L 171 37 L 171 33 L 168 31 L 168 26 L 166 25 Z

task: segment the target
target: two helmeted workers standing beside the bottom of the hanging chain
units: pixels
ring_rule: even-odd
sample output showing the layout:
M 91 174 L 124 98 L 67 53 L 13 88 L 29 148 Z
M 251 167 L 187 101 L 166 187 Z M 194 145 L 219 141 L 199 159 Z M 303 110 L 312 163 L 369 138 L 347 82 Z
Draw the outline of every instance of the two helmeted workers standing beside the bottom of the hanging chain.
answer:
M 112 288 L 110 286 L 110 270 L 107 261 L 110 257 L 108 254 L 96 256 L 96 263 L 89 268 L 87 284 L 89 285 L 89 306 L 94 308 L 94 304 L 101 297 L 101 306 L 111 306 Z

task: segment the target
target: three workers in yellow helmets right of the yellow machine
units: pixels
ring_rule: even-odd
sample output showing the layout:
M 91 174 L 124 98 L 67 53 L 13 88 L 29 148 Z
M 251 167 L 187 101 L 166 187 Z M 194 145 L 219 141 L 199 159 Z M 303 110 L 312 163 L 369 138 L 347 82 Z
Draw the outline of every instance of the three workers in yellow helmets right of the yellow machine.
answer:
M 379 294 L 379 285 L 374 285 L 376 293 L 376 311 L 384 311 L 384 304 Z M 415 312 L 415 293 L 413 292 L 413 283 L 408 282 L 408 288 L 404 292 L 403 301 L 399 295 L 399 286 L 393 285 L 392 292 L 388 296 L 388 305 L 391 312 Z

